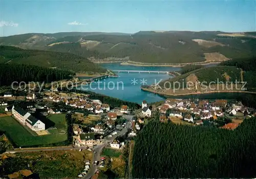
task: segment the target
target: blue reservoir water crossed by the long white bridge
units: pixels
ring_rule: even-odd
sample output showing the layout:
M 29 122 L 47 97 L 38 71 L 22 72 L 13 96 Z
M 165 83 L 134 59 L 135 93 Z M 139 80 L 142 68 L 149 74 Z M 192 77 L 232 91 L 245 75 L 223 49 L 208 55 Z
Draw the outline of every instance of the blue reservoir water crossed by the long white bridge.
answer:
M 124 66 L 119 63 L 106 63 L 102 64 L 109 70 L 143 70 L 143 71 L 179 71 L 180 67 L 144 67 L 144 66 Z M 213 66 L 213 65 L 207 65 Z M 99 82 L 92 83 L 90 86 L 82 86 L 85 90 L 90 90 L 96 93 L 120 98 L 122 100 L 141 103 L 146 100 L 149 103 L 164 100 L 163 97 L 150 92 L 142 91 L 140 86 L 151 85 L 158 83 L 160 80 L 173 78 L 173 76 L 166 73 L 135 73 L 135 72 L 120 72 L 118 78 L 107 78 Z M 134 82 L 134 83 L 132 83 Z

